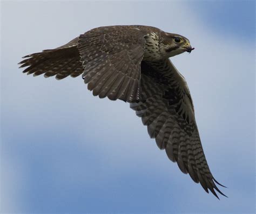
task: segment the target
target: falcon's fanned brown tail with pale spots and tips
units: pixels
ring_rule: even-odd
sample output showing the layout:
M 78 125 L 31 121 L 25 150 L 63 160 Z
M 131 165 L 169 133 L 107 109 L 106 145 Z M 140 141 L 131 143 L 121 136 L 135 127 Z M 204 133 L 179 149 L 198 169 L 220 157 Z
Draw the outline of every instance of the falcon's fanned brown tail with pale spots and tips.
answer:
M 83 73 L 83 67 L 82 62 L 80 62 L 77 42 L 78 38 L 75 38 L 58 48 L 24 56 L 23 58 L 26 59 L 19 64 L 22 64 L 21 67 L 29 67 L 23 73 L 34 76 L 44 74 L 44 77 L 56 75 L 57 80 L 69 75 L 72 77 L 79 76 Z

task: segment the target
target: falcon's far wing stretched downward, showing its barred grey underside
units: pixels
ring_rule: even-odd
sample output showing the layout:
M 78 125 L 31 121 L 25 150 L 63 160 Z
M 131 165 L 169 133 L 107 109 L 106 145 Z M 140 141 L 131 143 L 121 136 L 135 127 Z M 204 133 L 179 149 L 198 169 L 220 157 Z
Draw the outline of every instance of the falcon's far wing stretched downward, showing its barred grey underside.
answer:
M 177 162 L 194 182 L 200 182 L 206 192 L 210 189 L 218 198 L 215 189 L 224 195 L 207 165 L 184 77 L 169 59 L 150 64 L 143 61 L 141 84 L 143 101 L 131 103 L 130 107 L 142 117 L 150 137 L 156 138 L 169 159 Z

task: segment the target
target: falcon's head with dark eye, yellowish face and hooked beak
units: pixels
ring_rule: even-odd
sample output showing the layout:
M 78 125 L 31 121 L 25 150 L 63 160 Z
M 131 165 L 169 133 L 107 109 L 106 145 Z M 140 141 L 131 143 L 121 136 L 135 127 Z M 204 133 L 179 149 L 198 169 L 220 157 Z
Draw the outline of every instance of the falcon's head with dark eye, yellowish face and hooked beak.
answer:
M 164 33 L 161 44 L 161 52 L 168 58 L 184 52 L 191 53 L 194 49 L 190 45 L 190 40 L 174 33 Z

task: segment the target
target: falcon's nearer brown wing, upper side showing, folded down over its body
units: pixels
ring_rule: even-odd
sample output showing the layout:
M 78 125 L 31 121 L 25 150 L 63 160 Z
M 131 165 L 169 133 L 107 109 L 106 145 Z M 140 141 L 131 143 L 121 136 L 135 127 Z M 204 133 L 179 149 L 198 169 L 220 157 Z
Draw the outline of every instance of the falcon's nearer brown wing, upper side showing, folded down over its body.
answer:
M 98 27 L 80 35 L 83 78 L 93 95 L 127 102 L 139 99 L 143 36 L 138 28 L 127 26 Z

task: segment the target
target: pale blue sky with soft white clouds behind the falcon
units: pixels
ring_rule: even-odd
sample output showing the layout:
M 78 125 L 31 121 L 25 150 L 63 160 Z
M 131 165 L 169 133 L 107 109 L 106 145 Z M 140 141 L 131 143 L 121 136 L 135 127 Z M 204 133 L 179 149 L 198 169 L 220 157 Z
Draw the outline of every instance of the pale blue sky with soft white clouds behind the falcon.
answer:
M 254 213 L 254 1 L 2 1 L 2 213 Z M 81 77 L 22 74 L 21 57 L 91 28 L 150 25 L 189 38 L 190 87 L 220 201 L 180 172 L 122 101 Z

